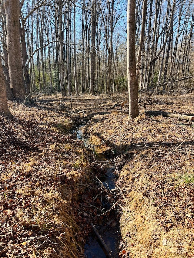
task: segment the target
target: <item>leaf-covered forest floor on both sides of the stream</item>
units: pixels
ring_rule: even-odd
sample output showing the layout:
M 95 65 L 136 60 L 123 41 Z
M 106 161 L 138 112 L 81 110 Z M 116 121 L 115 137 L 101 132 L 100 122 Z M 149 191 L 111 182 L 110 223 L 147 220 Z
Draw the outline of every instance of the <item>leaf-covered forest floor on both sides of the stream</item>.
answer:
M 0 257 L 84 257 L 105 167 L 73 132 L 82 123 L 118 172 L 119 257 L 194 257 L 193 122 L 143 111 L 193 115 L 194 95 L 141 97 L 133 120 L 110 109 L 124 95 L 34 98 L 0 118 Z

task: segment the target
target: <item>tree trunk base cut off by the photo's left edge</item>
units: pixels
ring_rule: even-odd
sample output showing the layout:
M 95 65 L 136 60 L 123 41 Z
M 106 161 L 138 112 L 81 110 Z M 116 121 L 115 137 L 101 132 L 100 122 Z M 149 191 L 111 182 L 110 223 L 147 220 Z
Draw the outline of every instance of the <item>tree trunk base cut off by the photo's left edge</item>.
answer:
M 10 114 L 11 113 L 9 112 L 7 105 L 5 77 L 3 74 L 3 68 L 0 60 L 0 115 L 8 116 Z

